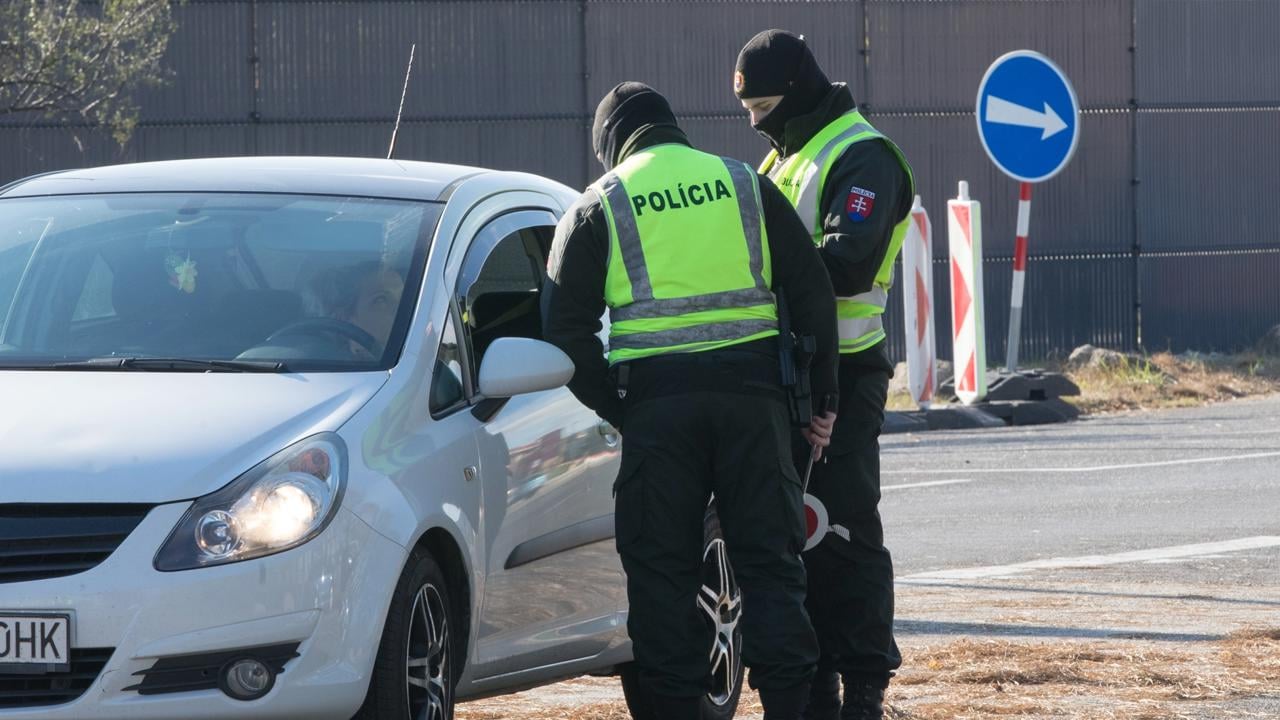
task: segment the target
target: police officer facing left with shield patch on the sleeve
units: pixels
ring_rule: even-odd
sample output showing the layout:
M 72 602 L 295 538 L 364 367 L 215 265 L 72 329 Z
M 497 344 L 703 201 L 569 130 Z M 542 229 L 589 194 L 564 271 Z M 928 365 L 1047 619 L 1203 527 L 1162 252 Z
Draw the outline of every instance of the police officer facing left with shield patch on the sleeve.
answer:
M 805 716 L 878 719 L 902 662 L 877 505 L 878 437 L 893 368 L 882 316 L 915 193 L 911 168 L 856 110 L 849 88 L 827 79 L 803 37 L 781 29 L 753 37 L 737 56 L 733 91 L 773 147 L 760 172 L 795 205 L 819 249 L 840 316 L 840 419 L 805 498 L 814 516 L 827 518 L 804 555 L 806 605 L 822 646 Z

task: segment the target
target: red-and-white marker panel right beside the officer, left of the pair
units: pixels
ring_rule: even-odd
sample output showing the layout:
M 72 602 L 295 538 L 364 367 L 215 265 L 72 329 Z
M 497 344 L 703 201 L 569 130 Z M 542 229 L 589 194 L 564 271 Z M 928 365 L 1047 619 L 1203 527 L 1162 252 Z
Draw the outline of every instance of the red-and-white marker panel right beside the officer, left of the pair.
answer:
M 928 410 L 938 387 L 933 332 L 933 225 L 915 196 L 902 241 L 902 316 L 906 318 L 906 379 L 911 400 Z

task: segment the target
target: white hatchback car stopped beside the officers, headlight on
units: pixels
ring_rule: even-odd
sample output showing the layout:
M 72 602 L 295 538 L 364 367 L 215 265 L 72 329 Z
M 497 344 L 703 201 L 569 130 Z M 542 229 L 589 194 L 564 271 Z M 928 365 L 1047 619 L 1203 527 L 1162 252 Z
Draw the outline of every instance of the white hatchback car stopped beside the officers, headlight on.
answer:
M 637 701 L 620 437 L 538 340 L 575 197 L 329 158 L 0 188 L 0 720 L 438 720 L 609 673 Z

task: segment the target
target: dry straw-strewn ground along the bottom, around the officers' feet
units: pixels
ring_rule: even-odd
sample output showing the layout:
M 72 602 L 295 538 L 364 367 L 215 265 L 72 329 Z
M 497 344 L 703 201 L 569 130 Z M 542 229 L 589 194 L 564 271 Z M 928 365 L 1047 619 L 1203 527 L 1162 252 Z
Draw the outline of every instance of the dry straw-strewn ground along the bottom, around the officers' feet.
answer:
M 1180 720 L 1257 717 L 1234 700 L 1280 694 L 1280 626 L 1247 628 L 1219 642 L 1140 639 L 956 639 L 904 647 L 888 720 Z M 465 703 L 460 720 L 627 720 L 616 679 L 581 678 L 557 692 Z M 744 692 L 737 717 L 759 719 Z

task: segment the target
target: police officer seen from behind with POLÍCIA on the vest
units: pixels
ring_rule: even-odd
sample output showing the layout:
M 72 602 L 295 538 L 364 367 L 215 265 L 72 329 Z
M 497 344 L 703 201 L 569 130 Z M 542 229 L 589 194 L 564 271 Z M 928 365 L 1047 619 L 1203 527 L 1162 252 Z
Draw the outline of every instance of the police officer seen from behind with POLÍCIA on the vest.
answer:
M 710 687 L 712 632 L 696 601 L 714 493 L 742 591 L 750 683 L 765 717 L 797 720 L 818 646 L 773 290 L 787 287 L 794 331 L 818 340 L 812 382 L 823 396 L 836 391 L 831 283 L 773 183 L 692 149 L 648 86 L 605 95 L 593 143 L 607 173 L 556 231 L 544 337 L 573 359 L 570 389 L 622 430 L 616 543 L 646 691 L 641 702 L 628 696 L 632 714 L 695 720 Z M 605 309 L 607 359 L 596 334 Z M 809 433 L 826 445 L 829 427 Z

